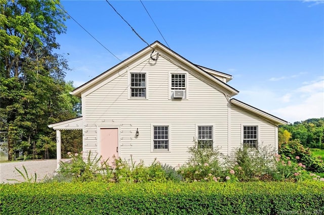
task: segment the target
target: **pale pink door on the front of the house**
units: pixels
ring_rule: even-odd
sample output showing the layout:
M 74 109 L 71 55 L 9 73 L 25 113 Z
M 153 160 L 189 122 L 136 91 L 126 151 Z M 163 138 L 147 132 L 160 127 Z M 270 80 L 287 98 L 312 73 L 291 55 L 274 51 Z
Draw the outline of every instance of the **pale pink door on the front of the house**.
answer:
M 103 160 L 108 160 L 112 166 L 114 156 L 118 158 L 118 129 L 102 128 L 100 129 L 100 154 Z

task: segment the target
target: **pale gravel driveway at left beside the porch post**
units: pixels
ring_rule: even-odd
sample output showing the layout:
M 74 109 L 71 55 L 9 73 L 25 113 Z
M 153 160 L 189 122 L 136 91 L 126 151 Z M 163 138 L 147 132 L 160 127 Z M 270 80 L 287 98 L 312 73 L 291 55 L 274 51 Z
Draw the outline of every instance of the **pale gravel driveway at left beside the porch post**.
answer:
M 7 179 L 16 179 L 23 182 L 23 177 L 15 169 L 16 167 L 24 173 L 22 166 L 25 166 L 28 176 L 32 175 L 34 177 L 34 173 L 36 173 L 37 181 L 41 181 L 46 176 L 51 177 L 53 175 L 56 170 L 56 159 L 1 163 L 0 183 L 17 183 L 16 181 L 8 181 Z

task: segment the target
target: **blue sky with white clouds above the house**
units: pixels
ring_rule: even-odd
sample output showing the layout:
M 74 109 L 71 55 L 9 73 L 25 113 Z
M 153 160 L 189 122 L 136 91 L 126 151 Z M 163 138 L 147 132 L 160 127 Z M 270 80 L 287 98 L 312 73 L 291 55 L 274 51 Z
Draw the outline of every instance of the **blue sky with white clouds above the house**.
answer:
M 110 1 L 148 42 L 161 37 L 140 1 Z M 323 1 L 143 1 L 170 48 L 233 76 L 234 98 L 288 122 L 324 117 Z M 146 47 L 105 1 L 62 1 L 120 60 Z M 120 63 L 72 19 L 57 41 L 77 87 Z

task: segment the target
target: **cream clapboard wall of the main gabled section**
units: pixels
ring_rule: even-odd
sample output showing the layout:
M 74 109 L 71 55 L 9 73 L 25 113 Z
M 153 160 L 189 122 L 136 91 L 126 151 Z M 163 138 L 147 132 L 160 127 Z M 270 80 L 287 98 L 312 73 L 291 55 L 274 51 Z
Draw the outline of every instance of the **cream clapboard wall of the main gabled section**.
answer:
M 150 164 L 184 164 L 188 147 L 197 137 L 197 125 L 213 126 L 214 147 L 227 153 L 228 100 L 197 74 L 170 63 L 163 56 L 153 62 L 136 62 L 128 70 L 103 81 L 94 91 L 83 93 L 84 151 L 100 153 L 100 128 L 118 128 L 119 157 Z M 129 98 L 130 72 L 147 74 L 147 98 Z M 170 73 L 186 73 L 187 98 L 170 99 Z M 169 126 L 169 151 L 153 151 L 152 126 Z M 136 130 L 139 136 L 136 137 Z

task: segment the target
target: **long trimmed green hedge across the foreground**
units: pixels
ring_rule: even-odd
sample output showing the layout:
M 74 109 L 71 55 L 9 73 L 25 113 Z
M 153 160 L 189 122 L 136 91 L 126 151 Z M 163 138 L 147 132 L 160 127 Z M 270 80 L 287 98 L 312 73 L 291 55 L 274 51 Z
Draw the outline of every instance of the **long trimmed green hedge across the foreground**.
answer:
M 1 214 L 322 214 L 324 183 L 0 185 Z

